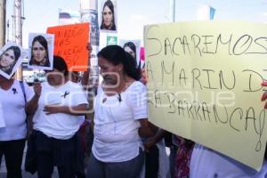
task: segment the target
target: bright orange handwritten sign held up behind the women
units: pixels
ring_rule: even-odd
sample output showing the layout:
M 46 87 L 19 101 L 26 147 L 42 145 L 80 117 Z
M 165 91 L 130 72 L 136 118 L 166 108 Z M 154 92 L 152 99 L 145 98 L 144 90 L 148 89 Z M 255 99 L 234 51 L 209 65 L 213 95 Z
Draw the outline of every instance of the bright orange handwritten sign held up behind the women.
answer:
M 61 56 L 69 71 L 85 71 L 88 68 L 89 23 L 78 23 L 47 28 L 54 34 L 54 55 Z

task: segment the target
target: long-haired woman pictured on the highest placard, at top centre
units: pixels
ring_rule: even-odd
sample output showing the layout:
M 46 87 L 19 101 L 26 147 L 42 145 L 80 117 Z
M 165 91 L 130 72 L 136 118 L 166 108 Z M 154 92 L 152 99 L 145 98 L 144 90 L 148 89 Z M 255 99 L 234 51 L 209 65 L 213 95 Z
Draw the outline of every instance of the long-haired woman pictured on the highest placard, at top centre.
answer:
M 101 29 L 116 30 L 114 5 L 110 0 L 103 6 Z

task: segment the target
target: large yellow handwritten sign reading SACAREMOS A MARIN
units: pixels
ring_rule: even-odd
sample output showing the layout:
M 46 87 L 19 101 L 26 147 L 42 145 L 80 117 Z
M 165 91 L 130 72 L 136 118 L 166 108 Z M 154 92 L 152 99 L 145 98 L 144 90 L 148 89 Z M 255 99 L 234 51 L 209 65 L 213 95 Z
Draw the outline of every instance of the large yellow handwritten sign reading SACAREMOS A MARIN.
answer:
M 239 21 L 145 27 L 150 121 L 259 170 L 267 26 Z

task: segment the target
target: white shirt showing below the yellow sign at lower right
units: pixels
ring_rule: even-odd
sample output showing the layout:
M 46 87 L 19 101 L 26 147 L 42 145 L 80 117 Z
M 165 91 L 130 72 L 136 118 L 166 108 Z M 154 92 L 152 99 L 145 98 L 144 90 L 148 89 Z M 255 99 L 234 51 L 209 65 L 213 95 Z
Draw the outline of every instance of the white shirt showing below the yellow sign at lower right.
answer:
M 243 165 L 233 158 L 196 144 L 190 160 L 190 177 L 264 178 L 267 177 L 267 162 L 264 161 L 262 169 L 257 172 L 255 169 Z

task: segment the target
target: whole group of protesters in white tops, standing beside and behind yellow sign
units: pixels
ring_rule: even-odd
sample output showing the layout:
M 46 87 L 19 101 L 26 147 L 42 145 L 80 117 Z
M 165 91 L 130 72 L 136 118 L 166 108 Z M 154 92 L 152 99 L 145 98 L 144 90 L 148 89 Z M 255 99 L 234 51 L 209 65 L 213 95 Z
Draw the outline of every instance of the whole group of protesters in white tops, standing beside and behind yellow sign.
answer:
M 51 177 L 54 166 L 62 178 L 267 176 L 265 160 L 257 172 L 176 135 L 169 145 L 169 162 L 167 132 L 148 121 L 146 77 L 136 62 L 136 49 L 132 44 L 109 45 L 97 57 L 103 80 L 93 102 L 83 87 L 88 71 L 78 84 L 77 73 L 69 72 L 60 56 L 53 57 L 53 70 L 45 70 L 47 82 L 36 82 L 33 90 L 0 76 L 0 117 L 5 124 L 0 128 L 0 158 L 5 158 L 7 177 L 21 177 L 27 135 L 26 166 L 41 178 Z M 78 130 L 92 106 L 93 146 L 85 168 Z

